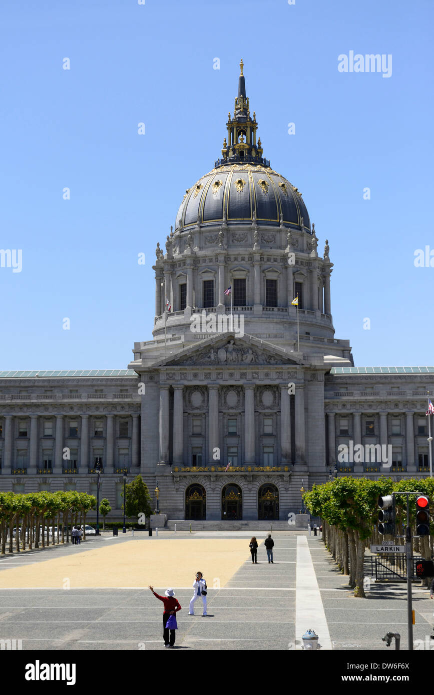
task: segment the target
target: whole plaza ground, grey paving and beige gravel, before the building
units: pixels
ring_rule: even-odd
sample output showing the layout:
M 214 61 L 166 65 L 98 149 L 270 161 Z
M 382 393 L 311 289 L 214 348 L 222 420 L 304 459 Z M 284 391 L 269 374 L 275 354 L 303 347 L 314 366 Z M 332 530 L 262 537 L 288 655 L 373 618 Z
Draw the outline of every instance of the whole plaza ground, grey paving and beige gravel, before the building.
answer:
M 366 600 L 354 598 L 319 537 L 273 533 L 274 564 L 268 564 L 265 534 L 258 534 L 259 564 L 252 565 L 250 534 L 106 534 L 79 547 L 6 555 L 0 558 L 0 639 L 22 639 L 23 649 L 163 649 L 163 606 L 146 588 L 153 583 L 159 594 L 172 586 L 182 605 L 174 651 L 299 649 L 309 628 L 325 649 L 387 652 L 381 637 L 389 630 L 400 632 L 407 647 L 405 584 L 371 583 Z M 47 587 L 53 574 L 58 582 L 66 570 L 75 577 L 77 568 L 81 588 Z M 208 584 L 207 617 L 200 599 L 188 616 L 198 570 Z M 429 644 L 434 601 L 426 589 L 413 585 L 413 607 L 414 638 Z

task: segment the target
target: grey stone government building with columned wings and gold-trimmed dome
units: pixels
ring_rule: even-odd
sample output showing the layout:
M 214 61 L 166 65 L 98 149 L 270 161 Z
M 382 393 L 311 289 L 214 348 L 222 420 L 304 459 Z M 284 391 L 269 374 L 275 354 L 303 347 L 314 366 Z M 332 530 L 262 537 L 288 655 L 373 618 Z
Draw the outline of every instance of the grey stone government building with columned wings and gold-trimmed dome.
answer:
M 170 527 L 284 522 L 330 476 L 426 475 L 434 368 L 354 366 L 328 240 L 257 129 L 241 61 L 221 154 L 156 247 L 153 340 L 126 370 L 0 372 L 0 490 L 96 495 L 99 462 L 118 515 L 141 473 Z

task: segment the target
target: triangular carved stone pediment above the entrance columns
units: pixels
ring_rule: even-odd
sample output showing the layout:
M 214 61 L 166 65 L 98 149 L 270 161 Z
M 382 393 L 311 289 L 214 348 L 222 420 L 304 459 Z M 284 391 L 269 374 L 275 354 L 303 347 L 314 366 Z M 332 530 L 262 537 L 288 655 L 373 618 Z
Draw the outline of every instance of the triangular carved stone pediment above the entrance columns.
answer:
M 163 359 L 154 366 L 218 366 L 230 367 L 250 365 L 303 365 L 303 361 L 289 357 L 282 348 L 265 343 L 245 334 L 238 338 L 234 333 L 211 336 L 200 345 L 191 345 L 176 356 Z

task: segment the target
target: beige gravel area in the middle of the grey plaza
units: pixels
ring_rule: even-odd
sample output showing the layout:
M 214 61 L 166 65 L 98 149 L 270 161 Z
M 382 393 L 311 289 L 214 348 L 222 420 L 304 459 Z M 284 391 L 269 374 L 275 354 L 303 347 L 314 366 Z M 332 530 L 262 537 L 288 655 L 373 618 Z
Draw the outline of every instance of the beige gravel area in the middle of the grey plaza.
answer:
M 197 571 L 210 588 L 217 582 L 224 587 L 250 558 L 248 544 L 248 539 L 131 539 L 86 552 L 70 546 L 67 557 L 2 570 L 0 589 L 190 587 Z

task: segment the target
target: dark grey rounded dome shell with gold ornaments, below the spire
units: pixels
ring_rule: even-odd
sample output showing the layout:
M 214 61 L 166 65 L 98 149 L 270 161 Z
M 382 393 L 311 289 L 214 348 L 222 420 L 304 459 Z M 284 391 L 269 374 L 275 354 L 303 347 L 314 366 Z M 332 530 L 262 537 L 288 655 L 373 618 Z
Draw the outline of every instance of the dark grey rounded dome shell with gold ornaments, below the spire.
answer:
M 281 219 L 282 215 L 282 219 Z M 186 190 L 179 206 L 175 230 L 198 224 L 247 224 L 310 231 L 310 219 L 301 193 L 270 167 L 252 163 L 214 168 Z

